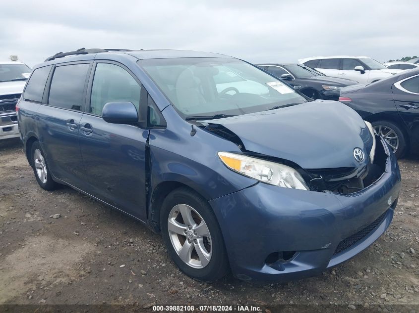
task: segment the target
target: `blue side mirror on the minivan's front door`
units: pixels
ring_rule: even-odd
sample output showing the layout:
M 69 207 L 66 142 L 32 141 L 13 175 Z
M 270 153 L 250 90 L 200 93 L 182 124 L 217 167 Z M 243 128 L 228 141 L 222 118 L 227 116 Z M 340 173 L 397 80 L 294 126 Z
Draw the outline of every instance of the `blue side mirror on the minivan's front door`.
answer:
M 138 112 L 132 102 L 108 102 L 102 109 L 102 118 L 113 124 L 136 124 Z

